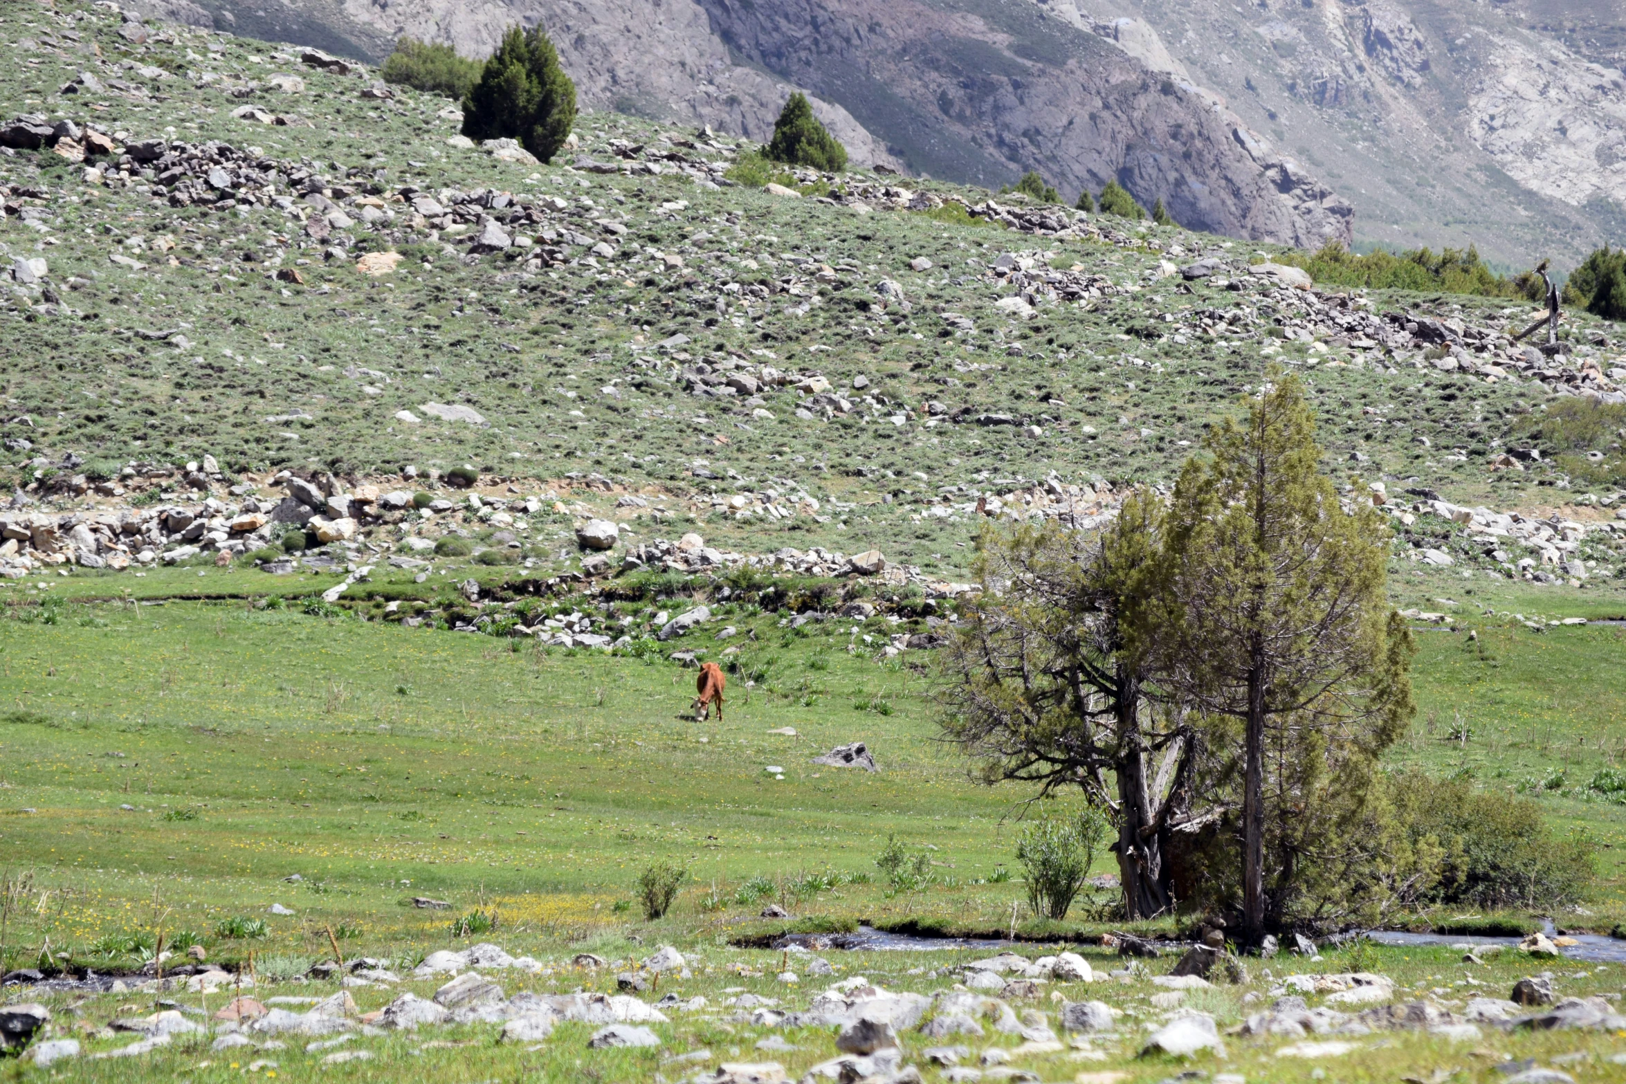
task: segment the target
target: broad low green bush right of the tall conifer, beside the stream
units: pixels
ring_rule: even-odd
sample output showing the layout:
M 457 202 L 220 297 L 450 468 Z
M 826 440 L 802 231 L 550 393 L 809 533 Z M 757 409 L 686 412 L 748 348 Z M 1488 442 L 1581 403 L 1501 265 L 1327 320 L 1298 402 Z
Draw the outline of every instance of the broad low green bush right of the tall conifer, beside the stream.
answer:
M 1528 798 L 1475 790 L 1467 780 L 1397 775 L 1390 795 L 1402 830 L 1442 850 L 1426 902 L 1486 908 L 1569 907 L 1595 876 L 1597 845 L 1558 837 Z

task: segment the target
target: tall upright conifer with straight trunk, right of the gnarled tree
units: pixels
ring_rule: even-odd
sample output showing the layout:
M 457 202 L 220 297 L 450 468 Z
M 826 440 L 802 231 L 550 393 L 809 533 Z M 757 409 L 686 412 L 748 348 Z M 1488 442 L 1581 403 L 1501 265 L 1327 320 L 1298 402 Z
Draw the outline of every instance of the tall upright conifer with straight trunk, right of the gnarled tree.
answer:
M 1211 744 L 1241 744 L 1242 933 L 1257 944 L 1307 861 L 1298 822 L 1371 791 L 1403 731 L 1411 639 L 1385 595 L 1382 517 L 1345 510 L 1319 471 L 1298 377 L 1276 374 L 1246 421 L 1226 419 L 1206 444 L 1211 458 L 1187 462 L 1166 520 L 1166 681 L 1216 720 Z

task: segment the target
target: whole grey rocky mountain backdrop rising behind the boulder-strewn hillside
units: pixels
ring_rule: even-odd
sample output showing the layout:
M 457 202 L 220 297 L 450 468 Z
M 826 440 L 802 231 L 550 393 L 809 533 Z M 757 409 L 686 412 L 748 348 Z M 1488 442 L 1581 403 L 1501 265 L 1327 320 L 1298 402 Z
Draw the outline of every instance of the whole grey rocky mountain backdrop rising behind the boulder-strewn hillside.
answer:
M 1117 176 L 1233 236 L 1304 244 L 1353 218 L 1364 244 L 1476 244 L 1525 268 L 1626 226 L 1618 3 L 140 2 L 372 59 L 400 33 L 478 55 L 543 20 L 598 109 L 759 140 L 797 85 L 862 163 L 985 185 L 1039 167 L 1067 195 Z

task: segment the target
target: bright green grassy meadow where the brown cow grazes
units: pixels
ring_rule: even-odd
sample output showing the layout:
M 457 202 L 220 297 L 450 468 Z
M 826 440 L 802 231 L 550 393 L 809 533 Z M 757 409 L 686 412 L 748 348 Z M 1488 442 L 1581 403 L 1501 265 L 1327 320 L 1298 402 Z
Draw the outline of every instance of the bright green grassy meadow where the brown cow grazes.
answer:
M 260 575 L 262 583 L 268 579 Z M 195 572 L 154 572 L 150 580 L 179 590 Z M 70 577 L 67 587 L 89 588 L 91 580 Z M 20 619 L 31 609 L 34 619 Z M 756 632 L 745 647 L 763 679 L 751 689 L 738 679 L 730 686 L 727 723 L 694 723 L 685 715 L 693 671 L 663 660 L 548 652 L 351 616 L 254 609 L 241 600 L 68 603 L 55 608 L 52 624 L 37 608 L 8 613 L 0 621 L 0 845 L 8 878 L 24 876 L 29 886 L 10 917 L 10 967 L 37 964 L 42 951 L 67 952 L 80 965 L 128 967 L 140 962 L 138 946 L 151 949 L 163 933 L 182 943 L 195 936 L 216 960 L 246 964 L 252 951 L 262 973 L 286 973 L 330 957 L 328 930 L 335 930 L 345 936 L 346 957 L 406 964 L 434 949 L 494 941 L 563 967 L 535 978 L 498 973 L 509 993 L 569 991 L 610 982 L 566 967 L 577 951 L 629 960 L 672 943 L 694 969 L 694 978 L 673 983 L 685 998 L 702 995 L 715 1006 L 724 988 L 745 988 L 795 1001 L 820 988 L 815 977 L 803 977 L 802 993 L 792 993 L 776 978 L 779 952 L 728 941 L 797 923 L 842 928 L 855 920 L 992 931 L 1006 928 L 1011 905 L 1023 900 L 1020 879 L 1005 881 L 997 869 L 1015 866 L 1026 795 L 967 782 L 963 761 L 935 741 L 930 678 L 911 666 L 927 657 L 906 653 L 899 665 L 878 663 L 873 648 L 849 653 L 847 622 L 829 629 L 833 635 L 792 635 L 772 614 L 730 616 L 741 635 Z M 1512 788 L 1527 775 L 1545 778 L 1561 769 L 1584 782 L 1616 761 L 1621 694 L 1611 674 L 1626 645 L 1619 627 L 1535 634 L 1485 619 L 1472 624 L 1483 657 L 1465 650 L 1465 632 L 1419 634 L 1419 713 L 1411 738 L 1395 751 L 1397 764 L 1421 762 L 1439 774 L 1467 769 L 1486 787 Z M 683 645 L 699 645 L 701 637 L 709 640 L 694 634 Z M 1467 744 L 1444 736 L 1457 712 L 1470 723 Z M 1533 731 L 1530 720 L 1541 720 Z M 782 726 L 797 736 L 769 733 Z M 881 772 L 808 764 L 813 754 L 855 739 L 870 743 Z M 784 780 L 769 765 L 784 769 Z M 1558 915 L 1559 925 L 1606 931 L 1626 913 L 1616 858 L 1626 842 L 1621 808 L 1564 790 L 1535 793 L 1558 822 L 1584 826 L 1603 843 L 1593 917 Z M 935 886 L 893 894 L 883 884 L 873 860 L 889 834 L 937 848 Z M 689 865 L 691 879 L 668 917 L 649 923 L 633 900 L 633 882 L 654 858 Z M 1098 858 L 1098 869 L 1111 868 L 1109 855 Z M 285 881 L 296 873 L 302 881 Z M 753 878 L 767 878 L 766 891 L 748 886 Z M 450 908 L 415 908 L 413 895 Z M 782 902 L 795 923 L 756 920 L 766 902 Z M 296 913 L 270 917 L 273 904 Z M 489 908 L 498 912 L 494 931 L 473 939 L 452 934 L 455 918 Z M 1039 933 L 1024 912 L 1021 904 L 1018 925 Z M 267 936 L 220 936 L 221 923 L 237 917 L 262 918 Z M 1067 926 L 1078 938 L 1106 928 L 1089 921 L 1088 905 Z M 1115 965 L 1099 949 L 1088 952 L 1099 969 Z M 1621 985 L 1618 965 L 1533 965 L 1507 954 L 1478 967 L 1446 949 L 1358 952 L 1353 960 L 1346 951 L 1332 952 L 1314 965 L 1255 962 L 1260 973 L 1249 986 L 1197 991 L 1189 1003 L 1215 1012 L 1221 1025 L 1239 1022 L 1249 990 L 1270 985 L 1265 969 L 1278 977 L 1380 970 L 1402 986 L 1421 986 L 1418 993 L 1437 990 L 1431 996 L 1446 1003 L 1506 996 L 1512 980 L 1543 969 L 1558 972 L 1563 993 Z M 933 978 L 933 969 L 969 959 L 951 951 L 826 957 L 842 969 L 836 978 L 862 973 L 906 990 L 943 988 L 951 978 Z M 1151 962 L 1150 970 L 1166 967 Z M 1463 985 L 1468 978 L 1483 988 Z M 428 996 L 434 985 L 402 988 Z M 353 993 L 367 1011 L 402 988 Z M 283 982 L 260 993 L 332 990 L 332 983 Z M 1158 990 L 1145 978 L 1055 986 L 1044 998 L 1052 990 L 1070 999 L 1102 998 L 1135 1012 L 1135 1021 L 1161 1016 L 1148 1001 Z M 62 1034 L 80 1034 L 75 1021 L 101 1024 L 150 1011 L 151 1003 L 153 995 L 94 996 L 76 1016 L 62 1017 Z M 1041 999 L 1034 1008 L 1054 1012 L 1055 1004 Z M 797 1051 L 763 1055 L 753 1043 L 771 1029 L 706 1014 L 672 1017 L 657 1025 L 663 1055 L 706 1048 L 712 1061 L 779 1060 L 795 1073 L 831 1053 L 829 1035 L 818 1030 L 787 1034 Z M 374 1060 L 324 1073 L 393 1079 L 428 1069 L 447 1081 L 511 1074 L 631 1081 L 657 1069 L 673 1076 L 642 1051 L 585 1051 L 580 1025 L 563 1027 L 535 1053 L 498 1047 L 494 1034 L 496 1025 L 463 1025 L 415 1038 L 364 1038 Z M 1089 1055 L 1024 1053 L 1015 1064 L 1042 1079 L 1111 1069 L 1156 1081 L 1177 1071 L 1132 1058 L 1137 1034 L 1124 1029 L 1119 1040 L 1096 1042 Z M 429 1035 L 475 1047 L 420 1050 Z M 124 1040 L 89 1035 L 88 1042 L 89 1050 L 104 1050 Z M 1605 1035 L 1488 1034 L 1480 1043 L 1452 1045 L 1402 1034 L 1359 1042 L 1358 1051 L 1325 1066 L 1337 1079 L 1428 1079 L 1436 1069 L 1488 1071 L 1491 1055 L 1468 1048 L 1543 1063 L 1584 1051 L 1587 1079 L 1603 1079 L 1618 1074 L 1606 1060 L 1616 1043 Z M 1208 1058 L 1202 1068 L 1296 1081 L 1324 1064 L 1276 1058 L 1280 1045 L 1233 1038 L 1229 1060 Z M 138 1063 L 72 1064 L 78 1079 L 236 1079 L 252 1060 L 249 1050 L 237 1053 L 221 1056 L 180 1042 Z M 280 1074 L 302 1079 L 324 1053 L 293 1045 L 252 1056 L 278 1060 Z

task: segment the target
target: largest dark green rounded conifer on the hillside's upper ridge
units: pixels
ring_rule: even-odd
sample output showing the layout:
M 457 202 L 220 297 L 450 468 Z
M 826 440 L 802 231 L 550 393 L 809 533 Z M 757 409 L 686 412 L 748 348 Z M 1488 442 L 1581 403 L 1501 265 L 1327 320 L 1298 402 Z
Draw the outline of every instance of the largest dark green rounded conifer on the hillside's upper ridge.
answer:
M 528 31 L 509 28 L 463 98 L 463 135 L 514 138 L 546 163 L 564 146 L 574 124 L 576 85 L 559 67 L 541 24 Z

